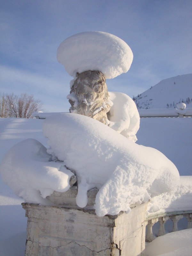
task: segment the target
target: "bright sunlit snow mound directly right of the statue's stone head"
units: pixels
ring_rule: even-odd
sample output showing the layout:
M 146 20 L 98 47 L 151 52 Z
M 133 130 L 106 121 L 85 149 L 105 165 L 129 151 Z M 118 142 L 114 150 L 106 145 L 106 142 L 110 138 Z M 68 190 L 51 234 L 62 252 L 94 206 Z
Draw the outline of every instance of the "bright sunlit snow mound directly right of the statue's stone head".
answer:
M 140 126 L 140 116 L 135 102 L 125 93 L 108 92 L 113 103 L 110 108 L 108 126 L 133 142 L 137 141 L 136 133 Z

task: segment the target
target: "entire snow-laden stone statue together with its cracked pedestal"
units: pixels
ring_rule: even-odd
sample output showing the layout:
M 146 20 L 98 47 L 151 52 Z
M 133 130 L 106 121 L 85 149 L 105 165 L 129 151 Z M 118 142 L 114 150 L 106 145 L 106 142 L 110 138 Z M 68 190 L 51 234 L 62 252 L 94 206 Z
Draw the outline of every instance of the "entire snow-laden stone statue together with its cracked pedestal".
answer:
M 57 60 L 74 77 L 73 113 L 44 120 L 48 148 L 23 140 L 0 164 L 4 182 L 28 202 L 26 256 L 142 255 L 146 202 L 180 177 L 162 153 L 134 143 L 140 117 L 133 100 L 107 91 L 105 78 L 127 72 L 132 58 L 123 40 L 104 32 L 60 44 Z

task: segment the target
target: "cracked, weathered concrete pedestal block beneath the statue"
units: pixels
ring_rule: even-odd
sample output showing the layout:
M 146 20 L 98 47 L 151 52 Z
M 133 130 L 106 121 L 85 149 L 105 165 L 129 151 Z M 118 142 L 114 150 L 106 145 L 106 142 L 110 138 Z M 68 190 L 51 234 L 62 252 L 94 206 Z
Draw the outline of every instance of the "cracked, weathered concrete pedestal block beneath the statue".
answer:
M 22 203 L 28 217 L 25 256 L 139 256 L 145 248 L 147 204 L 128 214 Z

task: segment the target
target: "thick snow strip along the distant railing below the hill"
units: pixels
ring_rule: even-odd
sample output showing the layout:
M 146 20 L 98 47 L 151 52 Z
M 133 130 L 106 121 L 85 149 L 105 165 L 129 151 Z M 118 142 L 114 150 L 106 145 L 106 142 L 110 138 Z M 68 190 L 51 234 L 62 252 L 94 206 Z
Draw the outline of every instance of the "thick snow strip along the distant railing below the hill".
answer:
M 138 109 L 140 117 L 189 117 L 192 116 L 192 108 L 161 108 Z

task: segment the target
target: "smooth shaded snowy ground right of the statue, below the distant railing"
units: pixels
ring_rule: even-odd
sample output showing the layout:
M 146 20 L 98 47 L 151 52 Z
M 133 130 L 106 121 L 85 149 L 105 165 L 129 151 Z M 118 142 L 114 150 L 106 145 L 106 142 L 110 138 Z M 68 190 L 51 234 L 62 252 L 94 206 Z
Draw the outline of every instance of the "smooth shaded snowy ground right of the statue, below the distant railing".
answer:
M 192 175 L 192 118 L 141 118 L 137 139 L 167 156 L 180 176 Z

